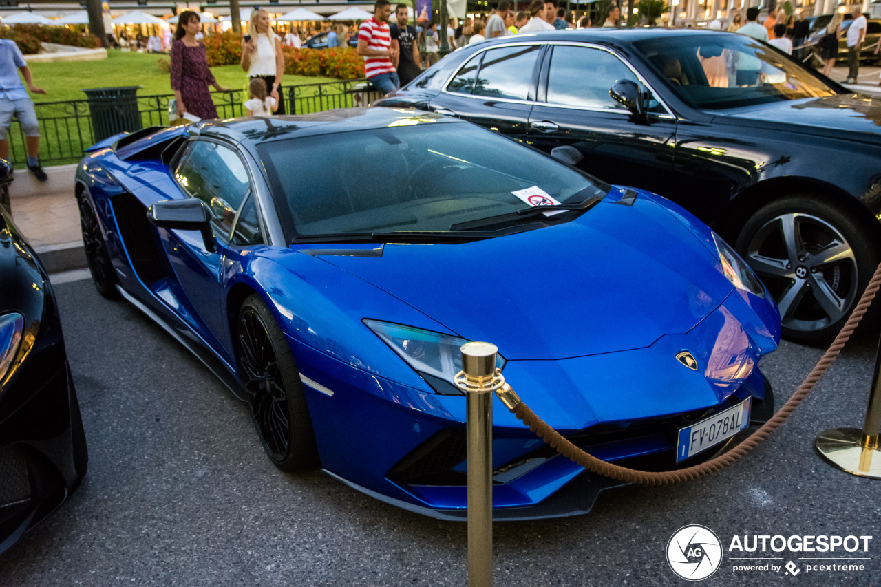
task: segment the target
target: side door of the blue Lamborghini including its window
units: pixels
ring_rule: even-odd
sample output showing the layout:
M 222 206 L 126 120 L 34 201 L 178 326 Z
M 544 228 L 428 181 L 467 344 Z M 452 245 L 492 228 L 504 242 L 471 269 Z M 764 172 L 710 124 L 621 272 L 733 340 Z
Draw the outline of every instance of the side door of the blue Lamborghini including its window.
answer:
M 197 230 L 159 229 L 176 281 L 175 292 L 159 297 L 217 349 L 226 331 L 226 316 L 220 311 L 221 262 L 251 191 L 248 170 L 232 146 L 200 138 L 188 145 L 174 179 L 187 196 L 201 199 L 211 210 L 214 247 L 206 249 Z

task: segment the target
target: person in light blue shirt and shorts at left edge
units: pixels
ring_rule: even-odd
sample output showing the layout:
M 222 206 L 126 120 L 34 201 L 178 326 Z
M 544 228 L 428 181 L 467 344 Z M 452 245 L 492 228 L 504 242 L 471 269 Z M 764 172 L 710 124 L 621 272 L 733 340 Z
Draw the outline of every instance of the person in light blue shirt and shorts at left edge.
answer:
M 31 71 L 27 69 L 25 57 L 15 41 L 0 39 L 0 159 L 9 160 L 8 134 L 12 116 L 15 116 L 25 133 L 27 168 L 39 181 L 45 182 L 48 177 L 40 167 L 40 125 L 33 101 L 27 95 L 17 69 L 25 78 L 27 89 L 32 93 L 46 93 L 46 90 L 33 86 Z

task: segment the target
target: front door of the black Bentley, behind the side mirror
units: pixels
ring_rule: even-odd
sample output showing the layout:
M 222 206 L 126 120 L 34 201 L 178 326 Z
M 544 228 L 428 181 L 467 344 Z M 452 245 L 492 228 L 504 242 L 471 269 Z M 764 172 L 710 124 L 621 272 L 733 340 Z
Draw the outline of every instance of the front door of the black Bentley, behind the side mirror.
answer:
M 609 89 L 629 79 L 648 90 L 634 69 L 608 48 L 560 43 L 549 46 L 537 102 L 529 115 L 529 143 L 550 152 L 571 145 L 581 152 L 584 171 L 605 182 L 650 189 L 676 189 L 673 152 L 677 121 L 658 100 L 644 120 L 617 101 Z

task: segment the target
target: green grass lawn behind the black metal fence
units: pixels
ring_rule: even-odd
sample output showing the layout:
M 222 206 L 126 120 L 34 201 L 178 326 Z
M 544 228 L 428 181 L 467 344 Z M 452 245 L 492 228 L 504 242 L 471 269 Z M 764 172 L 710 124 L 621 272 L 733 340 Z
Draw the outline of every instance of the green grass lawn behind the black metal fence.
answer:
M 158 60 L 168 56 L 146 53 L 123 53 L 111 50 L 107 59 L 101 61 L 79 61 L 60 63 L 33 63 L 28 67 L 33 76 L 33 85 L 46 90 L 46 95 L 32 94 L 37 105 L 37 118 L 41 121 L 40 157 L 44 165 L 63 165 L 76 163 L 82 158 L 83 149 L 93 145 L 89 109 L 85 104 L 59 104 L 41 106 L 46 102 L 85 100 L 83 88 L 114 87 L 121 85 L 141 85 L 137 95 L 149 96 L 172 93 L 169 74 L 159 68 Z M 241 102 L 248 99 L 242 95 L 245 86 L 245 72 L 238 65 L 212 67 L 211 72 L 220 85 L 226 85 L 236 93 L 214 93 L 212 97 L 218 105 L 221 117 L 239 116 L 245 113 Z M 285 76 L 283 87 L 290 85 L 309 85 L 336 82 L 331 78 L 307 78 L 305 76 Z M 340 93 L 342 86 L 324 86 L 321 96 L 314 88 L 304 88 L 298 95 L 298 114 L 316 112 L 329 108 L 353 106 L 352 96 Z M 285 100 L 287 94 L 285 92 Z M 290 111 L 290 107 L 289 111 Z M 167 124 L 167 100 L 138 100 L 141 120 L 144 126 Z M 78 116 L 79 117 L 78 117 Z M 24 167 L 26 156 L 18 123 L 10 129 L 11 156 L 15 167 Z

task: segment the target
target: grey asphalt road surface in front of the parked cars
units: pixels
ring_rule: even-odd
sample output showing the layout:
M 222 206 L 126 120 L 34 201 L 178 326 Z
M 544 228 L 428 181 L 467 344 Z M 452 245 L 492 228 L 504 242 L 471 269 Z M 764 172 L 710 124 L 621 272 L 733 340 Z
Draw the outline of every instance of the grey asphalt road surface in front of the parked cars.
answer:
M 0 555 L 0 585 L 467 584 L 464 524 L 396 509 L 320 472 L 278 472 L 246 406 L 165 331 L 89 281 L 56 291 L 89 472 Z M 821 353 L 784 343 L 763 362 L 778 406 Z M 588 516 L 495 524 L 495 584 L 691 584 L 665 558 L 686 524 L 712 529 L 725 550 L 735 534 L 875 537 L 868 554 L 838 554 L 871 558 L 864 572 L 736 573 L 726 553 L 702 584 L 881 584 L 881 483 L 834 470 L 811 448 L 826 428 L 862 425 L 874 356 L 874 340 L 848 346 L 767 442 L 707 479 L 614 490 Z

